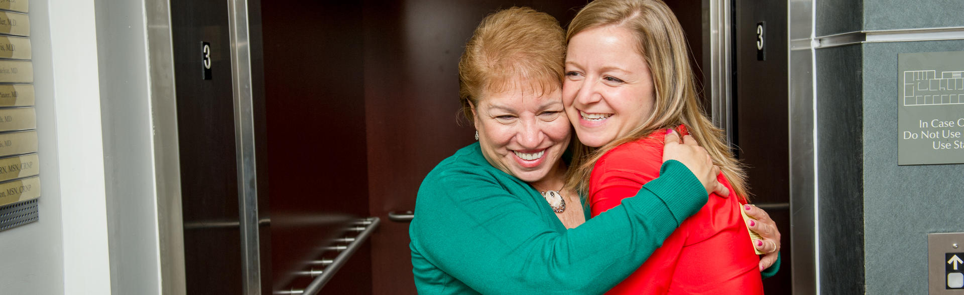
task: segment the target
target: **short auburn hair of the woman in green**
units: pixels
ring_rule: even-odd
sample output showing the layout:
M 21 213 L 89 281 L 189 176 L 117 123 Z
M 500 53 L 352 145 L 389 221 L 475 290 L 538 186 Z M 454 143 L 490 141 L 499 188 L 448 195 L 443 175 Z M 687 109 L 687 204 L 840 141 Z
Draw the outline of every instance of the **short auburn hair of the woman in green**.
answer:
M 482 19 L 459 60 L 459 99 L 469 121 L 486 93 L 531 90 L 540 96 L 559 89 L 565 61 L 565 32 L 554 17 L 530 8 L 510 8 Z

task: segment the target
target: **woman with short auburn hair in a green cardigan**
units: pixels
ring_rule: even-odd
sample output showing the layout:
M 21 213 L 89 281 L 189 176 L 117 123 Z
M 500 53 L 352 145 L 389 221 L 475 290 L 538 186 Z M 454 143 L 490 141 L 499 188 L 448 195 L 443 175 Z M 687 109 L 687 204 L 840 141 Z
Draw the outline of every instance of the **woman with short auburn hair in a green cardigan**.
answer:
M 585 220 L 562 189 L 564 39 L 549 14 L 521 8 L 487 16 L 469 39 L 460 99 L 478 142 L 418 189 L 409 233 L 419 293 L 603 293 L 720 185 L 702 148 L 669 139 L 658 179 L 610 209 L 619 214 Z

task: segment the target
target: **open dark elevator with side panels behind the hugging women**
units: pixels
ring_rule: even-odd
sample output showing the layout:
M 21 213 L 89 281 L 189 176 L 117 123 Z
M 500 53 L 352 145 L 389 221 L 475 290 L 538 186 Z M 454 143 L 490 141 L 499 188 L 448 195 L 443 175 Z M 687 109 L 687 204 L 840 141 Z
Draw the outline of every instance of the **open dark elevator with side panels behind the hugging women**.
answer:
M 698 66 L 704 71 L 713 68 L 707 63 L 716 64 L 706 62 L 716 55 L 707 49 L 714 46 L 712 33 L 707 16 L 701 14 L 710 1 L 700 8 L 684 1 L 668 3 L 688 32 L 695 61 L 705 61 Z M 732 140 L 741 148 L 738 156 L 751 165 L 755 203 L 770 212 L 785 236 L 783 270 L 764 281 L 767 290 L 780 292 L 790 289 L 789 193 L 781 186 L 786 185 L 787 173 L 781 172 L 786 167 L 779 167 L 787 162 L 787 108 L 779 107 L 781 101 L 786 104 L 787 95 L 786 38 L 779 40 L 786 32 L 786 27 L 780 28 L 786 25 L 786 9 L 780 13 L 779 7 L 753 7 L 743 4 L 746 1 L 716 2 L 733 5 L 730 9 L 736 13 L 731 23 L 734 41 L 727 43 L 732 44 L 728 52 L 734 53 L 729 56 L 733 72 L 726 74 L 732 74 L 727 79 L 733 81 L 733 89 L 727 90 L 732 91 L 727 93 L 732 95 L 733 107 L 726 112 L 727 122 L 733 125 Z M 232 76 L 237 64 L 231 57 L 238 47 L 233 53 L 230 47 L 237 45 L 231 37 L 237 28 L 229 25 L 241 16 L 236 14 L 237 6 L 231 10 L 224 4 L 173 3 L 189 293 L 268 294 L 303 287 L 310 282 L 312 268 L 301 266 L 324 263 L 325 258 L 312 255 L 318 247 L 330 247 L 327 241 L 358 218 L 377 216 L 386 220 L 382 229 L 372 234 L 371 243 L 358 249 L 325 290 L 415 294 L 404 215 L 414 209 L 421 177 L 471 142 L 470 124 L 460 126 L 455 119 L 456 67 L 465 40 L 478 21 L 496 9 L 531 6 L 549 12 L 565 26 L 575 15 L 574 8 L 584 4 L 232 3 L 247 4 L 246 44 L 251 47 L 246 66 L 251 69 L 250 106 L 254 108 L 247 122 L 254 122 L 254 138 L 264 139 L 254 140 L 252 148 L 257 156 L 252 203 L 257 208 L 257 276 L 251 276 L 251 257 L 244 254 L 253 246 L 251 239 L 241 236 L 246 199 L 239 191 L 248 179 L 238 177 L 245 167 L 244 157 L 239 160 L 238 155 L 245 150 L 238 149 L 237 128 L 246 122 L 237 117 L 238 87 Z M 756 38 L 757 22 L 766 24 L 765 61 L 755 61 L 755 50 L 744 52 L 756 47 L 750 40 Z M 749 31 L 747 23 L 753 26 Z M 702 34 L 694 33 L 701 29 Z M 209 43 L 209 55 L 203 52 L 203 42 Z M 211 80 L 203 80 L 205 58 L 210 58 Z M 716 91 L 711 85 L 717 78 L 707 75 L 706 93 Z M 782 91 L 780 85 L 784 85 Z M 749 116 L 754 113 L 767 115 Z M 756 137 L 762 134 L 769 136 Z M 784 154 L 770 155 L 771 150 Z M 388 222 L 388 218 L 400 222 Z

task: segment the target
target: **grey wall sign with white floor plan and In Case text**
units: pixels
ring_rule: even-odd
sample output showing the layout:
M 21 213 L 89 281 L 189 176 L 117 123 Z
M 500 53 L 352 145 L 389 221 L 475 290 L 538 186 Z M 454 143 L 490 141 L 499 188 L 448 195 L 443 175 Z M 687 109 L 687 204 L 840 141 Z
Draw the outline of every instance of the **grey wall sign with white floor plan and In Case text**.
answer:
M 897 164 L 964 163 L 964 51 L 897 55 Z

